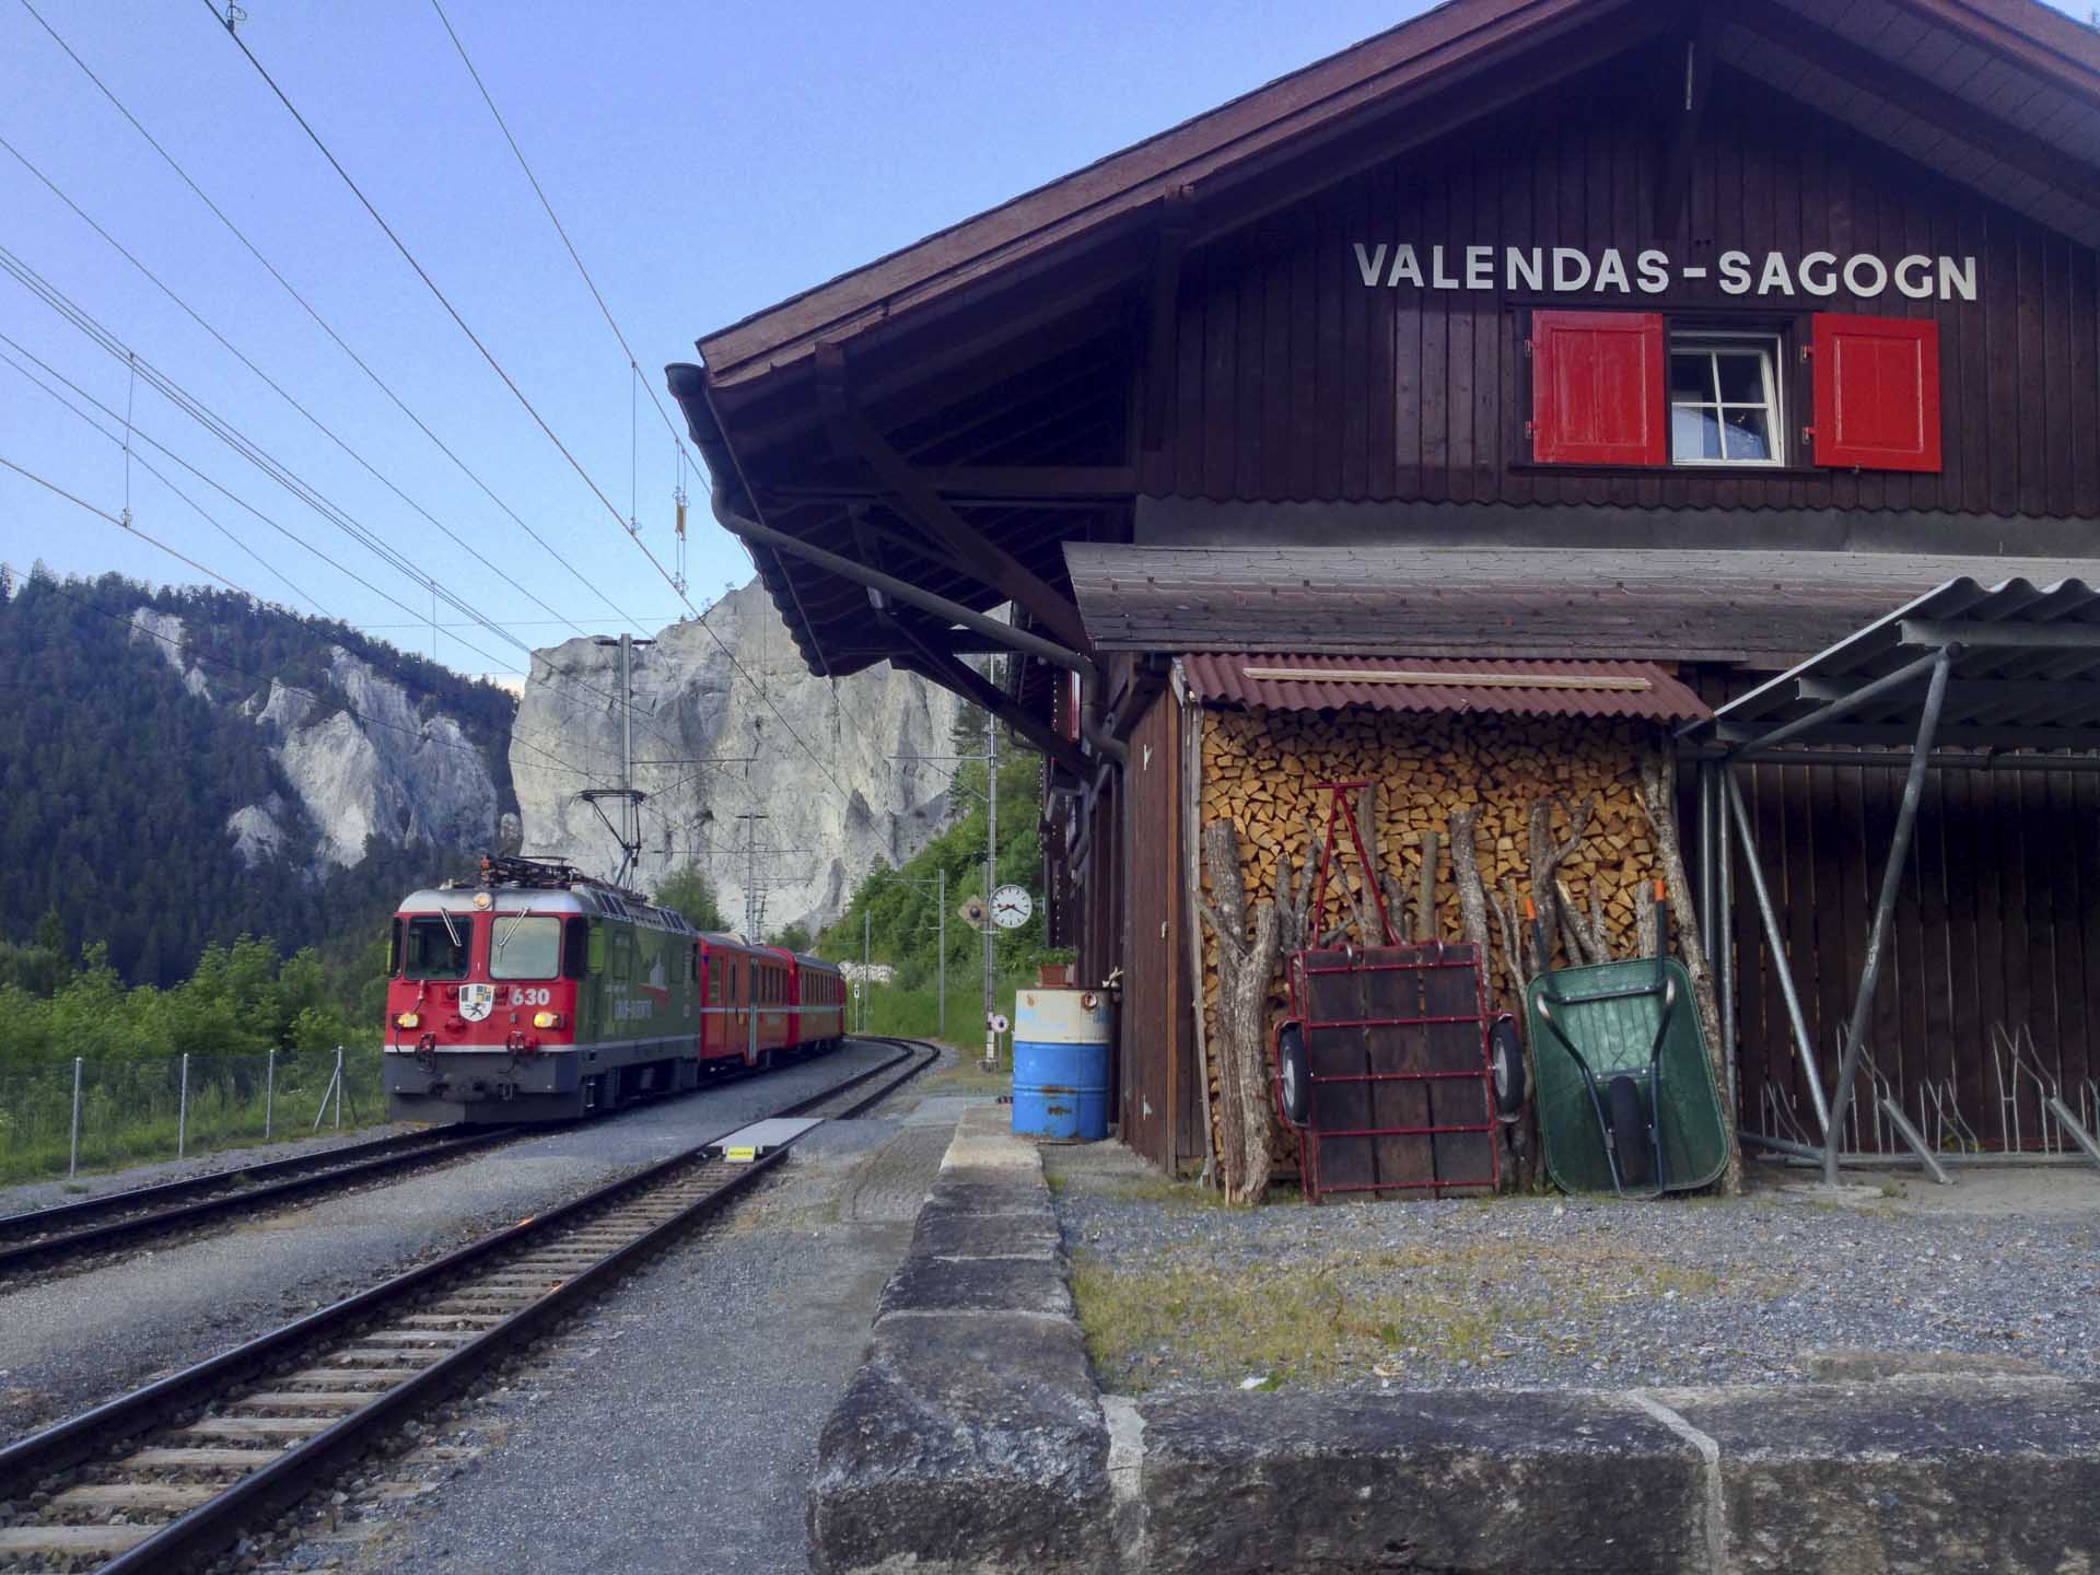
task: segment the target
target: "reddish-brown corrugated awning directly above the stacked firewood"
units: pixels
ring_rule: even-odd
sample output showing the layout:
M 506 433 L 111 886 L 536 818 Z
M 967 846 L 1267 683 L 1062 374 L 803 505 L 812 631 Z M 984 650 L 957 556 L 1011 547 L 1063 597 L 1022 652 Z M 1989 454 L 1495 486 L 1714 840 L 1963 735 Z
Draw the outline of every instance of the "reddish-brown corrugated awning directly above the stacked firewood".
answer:
M 1182 657 L 1195 697 L 1279 712 L 1380 710 L 1489 716 L 1638 716 L 1697 722 L 1714 712 L 1653 662 L 1495 662 L 1352 655 Z

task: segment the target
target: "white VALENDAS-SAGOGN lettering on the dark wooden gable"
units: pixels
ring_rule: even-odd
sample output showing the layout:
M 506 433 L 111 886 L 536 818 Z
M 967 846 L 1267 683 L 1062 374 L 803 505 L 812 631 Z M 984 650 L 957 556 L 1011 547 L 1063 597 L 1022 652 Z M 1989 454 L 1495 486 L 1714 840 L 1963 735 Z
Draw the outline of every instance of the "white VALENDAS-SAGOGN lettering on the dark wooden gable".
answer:
M 1894 262 L 1873 252 L 1722 252 L 1714 265 L 1678 262 L 1661 248 L 1628 256 L 1617 248 L 1575 246 L 1424 246 L 1354 242 L 1365 286 L 1418 290 L 1531 290 L 1537 294 L 1659 296 L 1678 284 L 1712 279 L 1724 296 L 1848 296 L 1873 300 L 1890 290 L 1911 300 L 1974 300 L 1974 256 L 1911 252 Z

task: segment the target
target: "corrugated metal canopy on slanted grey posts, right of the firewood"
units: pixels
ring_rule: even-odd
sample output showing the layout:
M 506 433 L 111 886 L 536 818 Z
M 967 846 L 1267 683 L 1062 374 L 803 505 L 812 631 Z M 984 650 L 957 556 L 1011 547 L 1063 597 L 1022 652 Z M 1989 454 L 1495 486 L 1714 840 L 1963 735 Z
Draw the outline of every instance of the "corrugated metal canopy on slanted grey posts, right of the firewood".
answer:
M 1732 909 L 1730 842 L 1739 836 L 1808 1096 L 1823 1128 L 1821 1151 L 1814 1151 L 1823 1161 L 1823 1178 L 1838 1180 L 1846 1115 L 1854 1100 L 1854 1084 L 1865 1071 L 1869 1086 L 1858 1096 L 1861 1102 L 1873 1107 L 1877 1124 L 1888 1119 L 1934 1180 L 1949 1182 L 1942 1157 L 1880 1086 L 1867 1048 L 1873 993 L 1911 855 L 1917 802 L 1926 771 L 1936 764 L 1974 766 L 2014 760 L 2050 771 L 2100 769 L 2100 756 L 2094 754 L 2052 754 L 2100 750 L 2100 590 L 2083 580 L 2060 580 L 2050 586 L 2006 580 L 1991 588 L 1974 580 L 1949 580 L 1722 706 L 1712 720 L 1680 729 L 1678 737 L 1714 746 L 1699 766 L 1699 859 L 1705 876 L 1701 930 L 1709 941 L 1709 956 L 1718 962 L 1716 983 L 1730 1069 L 1735 947 L 1718 930 Z M 1934 746 L 1942 743 L 1964 754 L 1936 756 Z M 1865 746 L 1867 752 L 1844 746 Z M 1999 754 L 2008 750 L 2016 754 Z M 1840 1042 L 1838 1082 L 1827 1096 L 1816 1073 L 1816 1048 L 1808 1037 L 1793 968 L 1787 962 L 1785 937 L 1758 859 L 1756 832 L 1735 779 L 1735 766 L 1760 760 L 1905 766 L 1894 844 L 1882 872 L 1858 991 Z M 2071 1109 L 2060 1098 L 2048 1105 L 2064 1134 L 2100 1161 L 2100 1142 L 2083 1130 Z

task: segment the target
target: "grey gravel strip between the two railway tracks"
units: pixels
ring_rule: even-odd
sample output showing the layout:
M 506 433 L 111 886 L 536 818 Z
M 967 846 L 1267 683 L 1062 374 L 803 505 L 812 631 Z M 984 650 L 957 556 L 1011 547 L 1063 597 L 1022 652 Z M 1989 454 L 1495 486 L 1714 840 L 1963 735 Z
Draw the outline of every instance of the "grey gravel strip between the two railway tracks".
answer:
M 0 1438 L 202 1361 L 892 1054 L 888 1046 L 848 1044 L 771 1077 L 645 1105 L 80 1275 L 0 1289 Z

